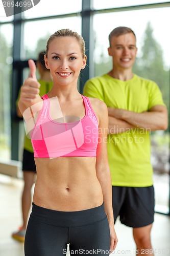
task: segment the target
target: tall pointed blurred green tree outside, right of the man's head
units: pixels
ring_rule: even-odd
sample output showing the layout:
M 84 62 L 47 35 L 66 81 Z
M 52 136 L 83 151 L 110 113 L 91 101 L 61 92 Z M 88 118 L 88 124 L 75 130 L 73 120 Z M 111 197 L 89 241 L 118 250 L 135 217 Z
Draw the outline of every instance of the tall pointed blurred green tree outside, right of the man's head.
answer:
M 153 28 L 150 22 L 147 24 L 143 36 L 142 56 L 136 58 L 133 72 L 139 76 L 155 81 L 169 107 L 169 72 L 164 70 L 163 51 L 153 36 Z

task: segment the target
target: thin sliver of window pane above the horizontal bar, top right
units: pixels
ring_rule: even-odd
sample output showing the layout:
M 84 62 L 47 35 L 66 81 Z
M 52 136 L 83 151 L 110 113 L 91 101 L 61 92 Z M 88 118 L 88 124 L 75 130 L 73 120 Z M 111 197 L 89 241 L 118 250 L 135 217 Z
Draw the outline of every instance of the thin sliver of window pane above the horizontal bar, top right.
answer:
M 169 1 L 164 0 L 119 0 L 119 1 L 113 1 L 113 0 L 93 0 L 94 1 L 94 9 L 109 9 L 109 8 L 118 8 L 118 7 L 126 7 L 126 6 L 137 6 L 137 5 L 147 5 L 147 4 L 156 4 L 156 3 L 165 3 Z

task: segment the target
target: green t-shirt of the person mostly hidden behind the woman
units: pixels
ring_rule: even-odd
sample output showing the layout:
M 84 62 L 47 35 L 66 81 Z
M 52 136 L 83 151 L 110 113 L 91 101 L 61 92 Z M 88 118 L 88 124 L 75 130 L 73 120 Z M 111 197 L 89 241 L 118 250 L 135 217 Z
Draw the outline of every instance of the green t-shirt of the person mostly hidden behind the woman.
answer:
M 43 80 L 38 80 L 38 82 L 41 84 L 39 90 L 40 93 L 39 95 L 42 96 L 48 92 L 50 92 L 50 90 L 53 87 L 53 81 L 43 81 Z M 18 105 L 18 101 L 19 101 L 19 97 L 20 97 L 20 91 L 18 94 L 18 98 L 16 100 L 16 106 Z M 31 139 L 27 137 L 27 135 L 25 135 L 25 139 L 24 139 L 24 144 L 23 144 L 23 148 L 25 148 L 25 150 L 33 153 L 33 147 L 32 147 L 32 143 L 31 143 Z

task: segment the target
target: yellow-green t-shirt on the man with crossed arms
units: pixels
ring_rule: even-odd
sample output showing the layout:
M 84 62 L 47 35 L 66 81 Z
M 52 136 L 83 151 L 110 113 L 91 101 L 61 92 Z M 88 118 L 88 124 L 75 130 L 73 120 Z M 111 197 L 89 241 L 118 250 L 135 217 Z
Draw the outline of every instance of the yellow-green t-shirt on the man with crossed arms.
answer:
M 108 107 L 137 113 L 164 105 L 157 84 L 137 75 L 127 81 L 107 74 L 94 77 L 85 83 L 83 94 L 103 100 Z M 107 148 L 112 185 L 144 187 L 153 184 L 150 131 L 135 128 L 109 134 Z

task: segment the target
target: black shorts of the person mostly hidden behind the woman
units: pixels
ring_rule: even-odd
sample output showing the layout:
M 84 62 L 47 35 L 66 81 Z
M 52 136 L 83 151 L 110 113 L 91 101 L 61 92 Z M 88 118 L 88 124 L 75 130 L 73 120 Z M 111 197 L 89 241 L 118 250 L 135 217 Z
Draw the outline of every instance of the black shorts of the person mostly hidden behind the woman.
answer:
M 31 153 L 27 150 L 23 150 L 22 170 L 23 172 L 30 171 L 36 173 L 34 153 Z

